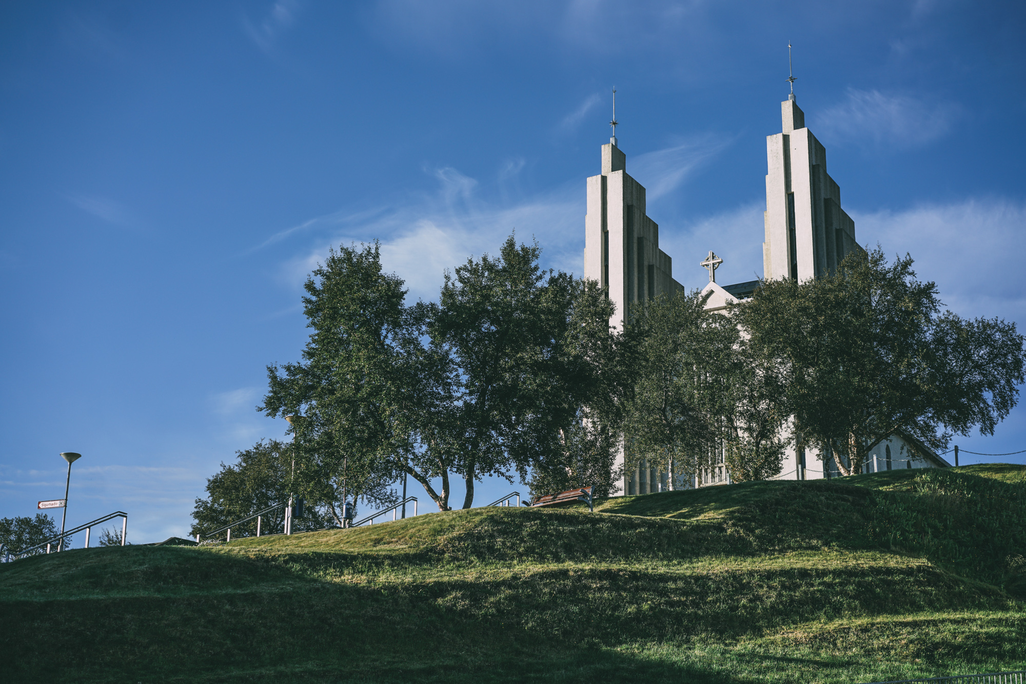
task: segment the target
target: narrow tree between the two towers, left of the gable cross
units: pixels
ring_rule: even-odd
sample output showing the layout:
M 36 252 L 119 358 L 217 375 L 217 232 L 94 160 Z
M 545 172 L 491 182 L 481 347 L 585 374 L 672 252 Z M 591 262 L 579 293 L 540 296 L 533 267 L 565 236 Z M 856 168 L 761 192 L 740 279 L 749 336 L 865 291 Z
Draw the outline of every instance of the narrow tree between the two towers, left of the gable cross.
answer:
M 712 465 L 717 436 L 714 406 L 738 333 L 729 320 L 705 310 L 709 295 L 662 294 L 638 305 L 627 325 L 637 374 L 625 427 L 625 462 L 642 459 L 675 479 Z

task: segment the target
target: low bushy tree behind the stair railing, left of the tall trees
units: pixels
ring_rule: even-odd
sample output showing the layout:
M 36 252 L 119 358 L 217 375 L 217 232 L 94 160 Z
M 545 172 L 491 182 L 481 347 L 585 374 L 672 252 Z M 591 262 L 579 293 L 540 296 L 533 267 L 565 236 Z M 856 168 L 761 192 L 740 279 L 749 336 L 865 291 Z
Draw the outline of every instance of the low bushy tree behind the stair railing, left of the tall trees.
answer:
M 206 498 L 197 498 L 193 510 L 190 534 L 203 534 L 229 523 L 247 518 L 276 504 L 287 504 L 291 493 L 291 444 L 277 440 L 260 441 L 245 451 L 237 451 L 237 462 L 221 464 L 221 471 L 207 479 Z M 307 501 L 306 515 L 292 522 L 294 531 L 321 529 L 328 526 L 328 511 L 337 500 L 326 500 L 323 493 L 314 492 Z M 337 508 L 334 509 L 337 510 Z M 341 525 L 341 512 L 334 515 Z M 277 509 L 261 521 L 264 534 L 283 530 L 285 514 Z M 256 521 L 232 528 L 233 536 L 256 534 Z M 121 542 L 120 534 L 117 535 Z

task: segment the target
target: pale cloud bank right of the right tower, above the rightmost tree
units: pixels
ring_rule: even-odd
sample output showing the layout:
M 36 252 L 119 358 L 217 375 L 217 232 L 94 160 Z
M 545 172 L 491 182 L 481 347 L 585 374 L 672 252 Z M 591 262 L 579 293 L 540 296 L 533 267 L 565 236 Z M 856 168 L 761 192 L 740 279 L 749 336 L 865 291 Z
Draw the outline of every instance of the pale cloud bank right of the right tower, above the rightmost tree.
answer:
M 999 316 L 1026 325 L 1026 204 L 1001 198 L 852 212 L 862 244 L 910 253 L 920 279 L 961 316 Z

